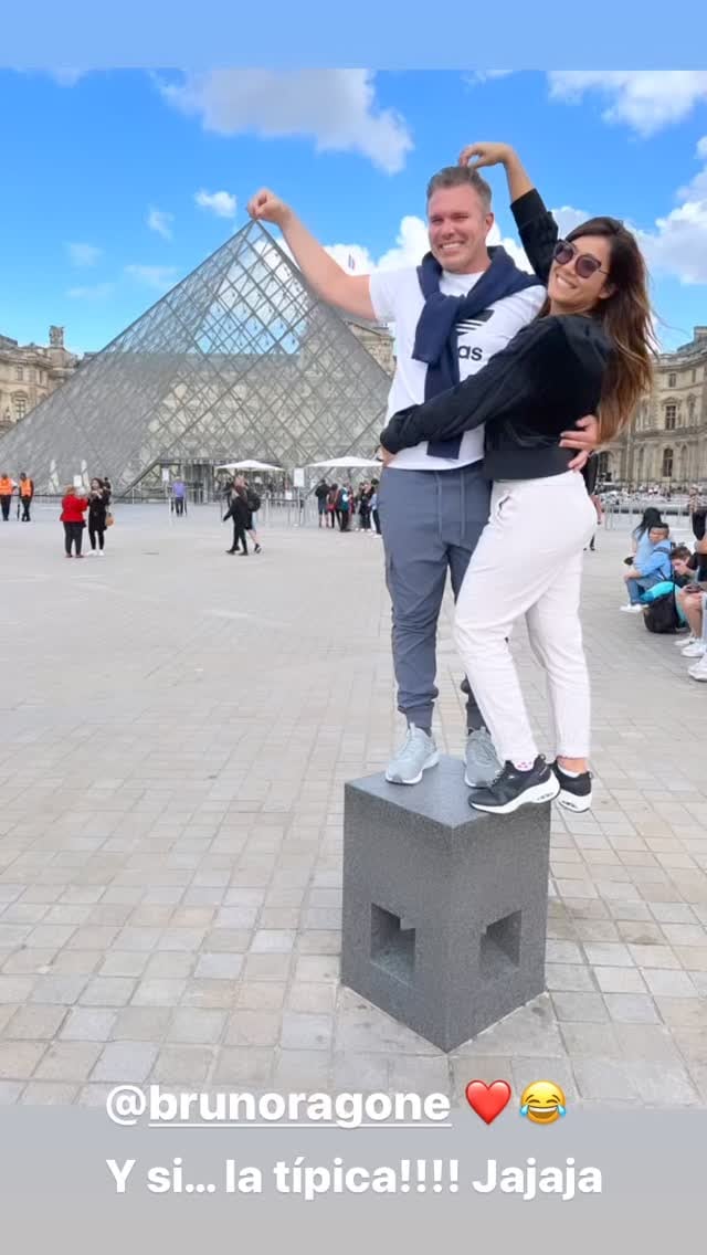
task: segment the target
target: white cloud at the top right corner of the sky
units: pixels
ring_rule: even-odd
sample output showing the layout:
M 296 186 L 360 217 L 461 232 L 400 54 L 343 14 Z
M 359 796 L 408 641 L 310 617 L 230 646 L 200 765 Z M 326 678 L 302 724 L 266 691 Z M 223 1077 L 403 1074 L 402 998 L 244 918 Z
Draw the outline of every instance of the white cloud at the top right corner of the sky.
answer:
M 607 98 L 607 122 L 628 123 L 640 136 L 681 122 L 707 99 L 707 70 L 550 70 L 550 95 L 578 104 L 586 92 Z

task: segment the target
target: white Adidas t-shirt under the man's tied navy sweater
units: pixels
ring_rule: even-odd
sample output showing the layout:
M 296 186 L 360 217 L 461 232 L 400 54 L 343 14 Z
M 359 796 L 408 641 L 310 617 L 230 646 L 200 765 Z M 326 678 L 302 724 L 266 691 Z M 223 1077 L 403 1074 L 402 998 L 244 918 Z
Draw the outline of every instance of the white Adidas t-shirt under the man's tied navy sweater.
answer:
M 480 277 L 481 275 L 452 275 L 443 270 L 440 291 L 445 296 L 466 296 Z M 424 297 L 414 266 L 375 271 L 369 276 L 369 284 L 375 318 L 380 323 L 396 324 L 397 365 L 387 414 L 391 418 L 399 409 L 419 405 L 424 400 L 427 364 L 416 361 L 412 355 Z M 509 340 L 532 321 L 544 300 L 545 289 L 536 284 L 515 296 L 496 301 L 477 318 L 458 323 L 460 379 L 475 375 L 495 353 L 505 349 Z M 453 471 L 470 462 L 478 462 L 482 457 L 483 428 L 478 427 L 463 433 L 460 457 L 456 459 L 428 457 L 427 441 L 423 441 L 412 449 L 402 449 L 391 464 L 401 471 Z

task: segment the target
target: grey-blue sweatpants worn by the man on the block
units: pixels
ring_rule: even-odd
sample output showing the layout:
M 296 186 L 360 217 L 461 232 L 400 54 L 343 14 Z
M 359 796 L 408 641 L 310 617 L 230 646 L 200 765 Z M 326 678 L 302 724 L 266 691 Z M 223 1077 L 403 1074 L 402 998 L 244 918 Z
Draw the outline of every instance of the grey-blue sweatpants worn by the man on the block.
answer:
M 396 471 L 387 467 L 378 488 L 386 551 L 386 580 L 393 604 L 393 664 L 398 710 L 408 723 L 429 728 L 438 689 L 437 620 L 447 571 L 455 600 L 468 561 L 488 521 L 491 486 L 482 463 L 455 471 Z M 483 720 L 468 689 L 467 727 Z

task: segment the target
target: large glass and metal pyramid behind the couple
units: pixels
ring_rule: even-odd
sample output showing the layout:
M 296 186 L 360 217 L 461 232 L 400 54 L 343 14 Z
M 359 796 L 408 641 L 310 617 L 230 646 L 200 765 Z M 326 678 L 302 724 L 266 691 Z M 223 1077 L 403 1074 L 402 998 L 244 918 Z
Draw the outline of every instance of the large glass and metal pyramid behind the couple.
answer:
M 251 222 L 0 439 L 38 492 L 235 457 L 283 467 L 373 453 L 389 378 Z

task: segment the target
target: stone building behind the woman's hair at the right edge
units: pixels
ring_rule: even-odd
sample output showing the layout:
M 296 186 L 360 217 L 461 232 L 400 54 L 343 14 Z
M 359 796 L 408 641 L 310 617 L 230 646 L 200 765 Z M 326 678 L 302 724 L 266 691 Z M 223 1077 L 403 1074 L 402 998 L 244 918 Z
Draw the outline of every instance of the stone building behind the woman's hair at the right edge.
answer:
M 658 359 L 656 384 L 630 428 L 600 454 L 600 476 L 628 488 L 707 483 L 707 326 Z

